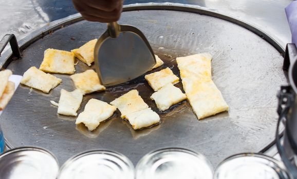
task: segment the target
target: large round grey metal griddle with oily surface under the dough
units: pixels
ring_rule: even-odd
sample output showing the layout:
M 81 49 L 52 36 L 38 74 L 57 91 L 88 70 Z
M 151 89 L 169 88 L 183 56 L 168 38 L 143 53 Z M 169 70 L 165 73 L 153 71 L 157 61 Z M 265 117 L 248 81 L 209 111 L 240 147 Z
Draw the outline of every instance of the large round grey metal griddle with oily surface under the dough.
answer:
M 280 85 L 287 83 L 287 77 L 282 70 L 283 57 L 279 52 L 282 48 L 273 39 L 262 33 L 270 41 L 268 43 L 251 32 L 261 34 L 261 31 L 227 18 L 251 28 L 249 31 L 209 15 L 226 16 L 202 9 L 169 6 L 133 9 L 126 8 L 130 11 L 123 12 L 119 23 L 135 26 L 146 35 L 155 53 L 164 61 L 164 65 L 154 71 L 169 67 L 179 76 L 176 57 L 204 52 L 213 55 L 213 80 L 230 106 L 229 113 L 198 121 L 187 101 L 161 113 L 150 99 L 153 90 L 142 76 L 131 83 L 109 87 L 105 92 L 86 95 L 79 113 L 91 98 L 110 102 L 131 89 L 137 89 L 144 101 L 160 115 L 161 123 L 150 129 L 134 131 L 120 119 L 117 111 L 110 120 L 89 132 L 84 125 L 76 126 L 75 117 L 58 115 L 57 108 L 50 104 L 50 100 L 59 101 L 62 88 L 75 89 L 68 75 L 55 74 L 62 78 L 63 83 L 49 94 L 24 85 L 17 88 L 0 116 L 8 146 L 47 148 L 61 164 L 76 153 L 94 148 L 116 150 L 136 164 L 151 150 L 179 146 L 201 152 L 215 166 L 234 153 L 261 151 L 274 140 L 276 93 Z M 23 50 L 24 57 L 12 61 L 8 69 L 23 75 L 31 66 L 39 67 L 46 49 L 70 51 L 98 38 L 106 29 L 105 24 L 81 19 L 78 17 L 60 24 L 63 26 L 48 27 L 42 38 L 41 35 L 32 36 L 22 46 L 23 49 L 27 46 Z M 81 61 L 76 66 L 77 73 L 87 69 L 88 66 Z M 182 88 L 181 83 L 177 86 Z

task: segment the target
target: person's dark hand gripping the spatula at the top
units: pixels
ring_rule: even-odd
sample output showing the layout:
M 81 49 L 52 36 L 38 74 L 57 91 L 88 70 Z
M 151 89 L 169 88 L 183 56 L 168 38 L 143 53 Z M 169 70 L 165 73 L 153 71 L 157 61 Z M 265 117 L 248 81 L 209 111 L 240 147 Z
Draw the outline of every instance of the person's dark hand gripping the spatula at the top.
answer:
M 72 0 L 72 2 L 86 20 L 112 23 L 119 20 L 124 0 Z

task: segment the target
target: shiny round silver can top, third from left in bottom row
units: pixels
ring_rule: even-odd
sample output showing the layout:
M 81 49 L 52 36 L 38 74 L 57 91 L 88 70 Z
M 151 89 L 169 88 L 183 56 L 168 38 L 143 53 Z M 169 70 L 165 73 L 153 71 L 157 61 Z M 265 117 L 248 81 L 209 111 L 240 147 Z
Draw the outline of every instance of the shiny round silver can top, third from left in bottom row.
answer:
M 200 153 L 184 148 L 163 148 L 143 156 L 136 179 L 212 179 L 213 168 Z

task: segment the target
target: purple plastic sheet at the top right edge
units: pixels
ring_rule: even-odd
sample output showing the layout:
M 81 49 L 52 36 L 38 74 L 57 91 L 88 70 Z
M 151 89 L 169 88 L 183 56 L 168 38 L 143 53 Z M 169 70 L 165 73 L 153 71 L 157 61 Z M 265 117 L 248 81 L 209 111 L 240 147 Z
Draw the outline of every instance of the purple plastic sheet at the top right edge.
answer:
M 292 43 L 297 47 L 297 1 L 286 7 L 287 19 L 292 33 Z

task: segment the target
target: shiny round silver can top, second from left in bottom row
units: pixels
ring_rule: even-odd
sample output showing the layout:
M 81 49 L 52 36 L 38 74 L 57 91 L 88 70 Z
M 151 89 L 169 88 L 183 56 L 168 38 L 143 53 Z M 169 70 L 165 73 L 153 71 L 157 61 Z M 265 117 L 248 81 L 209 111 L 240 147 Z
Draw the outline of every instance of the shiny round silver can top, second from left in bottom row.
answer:
M 79 153 L 60 169 L 58 179 L 134 179 L 132 162 L 121 153 L 101 149 Z

